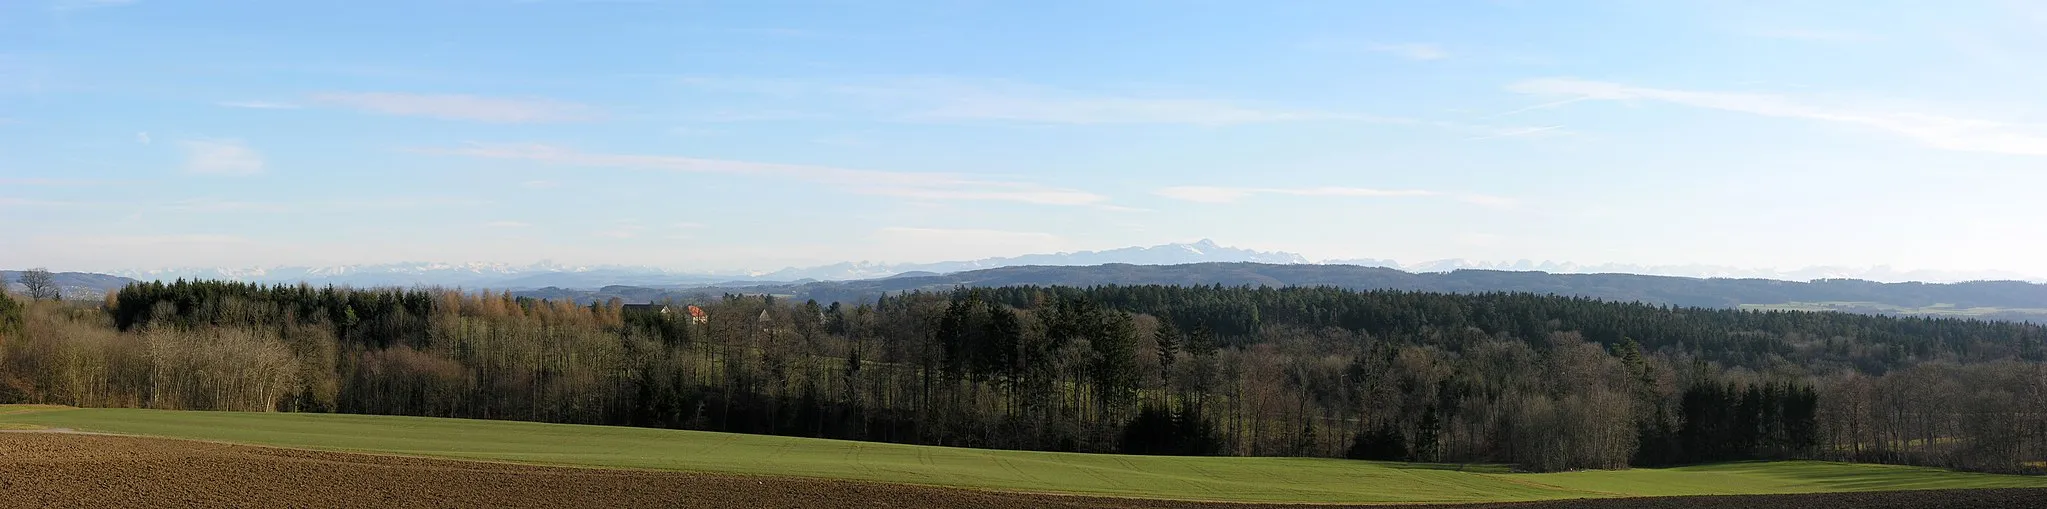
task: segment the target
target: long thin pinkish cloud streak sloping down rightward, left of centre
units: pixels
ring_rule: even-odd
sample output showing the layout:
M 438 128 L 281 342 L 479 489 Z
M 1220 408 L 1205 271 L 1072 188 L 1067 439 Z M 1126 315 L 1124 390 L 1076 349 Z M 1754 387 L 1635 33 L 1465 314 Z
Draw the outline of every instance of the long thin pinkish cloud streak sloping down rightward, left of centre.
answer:
M 786 178 L 843 188 L 858 194 L 925 198 L 925 200 L 1003 200 L 1032 204 L 1105 204 L 1107 196 L 1052 188 L 1032 182 L 985 180 L 958 174 L 913 174 L 847 170 L 829 166 L 759 164 L 729 159 L 698 159 L 676 155 L 590 153 L 553 145 L 489 145 L 473 143 L 456 149 L 420 149 L 422 153 L 465 155 L 485 159 L 524 159 L 561 166 L 624 168 L 688 174 L 739 174 Z

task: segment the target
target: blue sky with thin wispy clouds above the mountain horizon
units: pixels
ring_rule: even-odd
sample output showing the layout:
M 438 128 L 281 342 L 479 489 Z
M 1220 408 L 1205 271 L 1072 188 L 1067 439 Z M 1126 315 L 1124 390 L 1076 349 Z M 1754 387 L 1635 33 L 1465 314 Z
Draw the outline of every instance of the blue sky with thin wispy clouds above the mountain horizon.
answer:
M 0 2 L 0 268 L 2047 274 L 2047 4 Z

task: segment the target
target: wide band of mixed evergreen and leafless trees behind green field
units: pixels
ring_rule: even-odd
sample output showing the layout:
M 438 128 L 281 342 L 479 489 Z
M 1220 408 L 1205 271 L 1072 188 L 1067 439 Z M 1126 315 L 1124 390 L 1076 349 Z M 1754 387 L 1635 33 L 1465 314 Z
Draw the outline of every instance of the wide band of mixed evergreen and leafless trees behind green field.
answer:
M 698 305 L 692 321 L 684 305 Z M 0 296 L 0 403 L 907 444 L 2041 472 L 2047 329 L 1527 292 L 1005 286 L 665 309 L 141 282 Z

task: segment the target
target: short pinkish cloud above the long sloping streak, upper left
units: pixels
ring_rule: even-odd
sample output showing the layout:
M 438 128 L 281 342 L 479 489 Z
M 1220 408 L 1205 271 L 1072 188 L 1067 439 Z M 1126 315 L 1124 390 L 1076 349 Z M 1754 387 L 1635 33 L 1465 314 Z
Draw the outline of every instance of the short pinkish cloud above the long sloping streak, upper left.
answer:
M 313 102 L 379 114 L 428 117 L 479 123 L 573 123 L 596 121 L 596 108 L 549 98 L 485 98 L 463 94 L 330 92 Z

